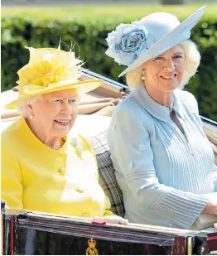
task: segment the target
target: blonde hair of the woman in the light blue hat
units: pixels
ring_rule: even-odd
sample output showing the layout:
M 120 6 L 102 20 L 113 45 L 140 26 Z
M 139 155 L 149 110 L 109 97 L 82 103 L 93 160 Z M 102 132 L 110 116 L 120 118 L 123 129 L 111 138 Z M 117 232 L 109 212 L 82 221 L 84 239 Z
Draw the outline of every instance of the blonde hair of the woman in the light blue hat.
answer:
M 191 40 L 182 41 L 180 44 L 186 54 L 183 77 L 179 86 L 179 89 L 183 89 L 190 80 L 190 77 L 195 75 L 196 70 L 200 65 L 200 52 L 198 51 L 196 44 Z M 140 65 L 137 67 L 137 69 L 127 73 L 126 80 L 130 89 L 134 89 L 139 85 L 143 85 L 143 81 L 141 79 L 142 70 L 143 66 Z

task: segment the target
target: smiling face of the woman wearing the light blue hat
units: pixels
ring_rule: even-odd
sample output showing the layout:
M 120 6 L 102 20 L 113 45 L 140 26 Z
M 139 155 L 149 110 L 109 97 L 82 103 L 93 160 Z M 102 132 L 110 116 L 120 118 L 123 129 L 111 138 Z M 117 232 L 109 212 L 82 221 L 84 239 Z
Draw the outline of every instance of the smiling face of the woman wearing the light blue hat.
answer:
M 174 46 L 143 65 L 147 72 L 145 85 L 165 92 L 173 91 L 181 85 L 184 65 L 185 51 L 181 45 Z

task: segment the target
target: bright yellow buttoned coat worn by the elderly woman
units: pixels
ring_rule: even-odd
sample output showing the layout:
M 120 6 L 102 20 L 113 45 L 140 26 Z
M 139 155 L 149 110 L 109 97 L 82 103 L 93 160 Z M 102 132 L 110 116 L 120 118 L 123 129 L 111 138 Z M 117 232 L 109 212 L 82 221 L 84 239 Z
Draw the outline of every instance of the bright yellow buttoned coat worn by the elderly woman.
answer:
M 13 209 L 73 216 L 113 215 L 89 142 L 70 133 L 59 152 L 19 118 L 2 133 L 2 199 Z

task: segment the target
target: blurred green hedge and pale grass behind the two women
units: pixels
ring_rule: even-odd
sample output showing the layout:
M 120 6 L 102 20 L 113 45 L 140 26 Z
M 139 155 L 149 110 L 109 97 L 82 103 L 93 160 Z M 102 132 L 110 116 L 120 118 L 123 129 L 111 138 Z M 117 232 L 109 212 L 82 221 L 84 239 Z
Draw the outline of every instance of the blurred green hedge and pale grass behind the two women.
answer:
M 171 12 L 181 21 L 201 4 L 184 6 L 104 5 L 75 7 L 2 7 L 2 91 L 18 80 L 17 70 L 27 64 L 24 46 L 57 47 L 61 40 L 74 45 L 85 68 L 125 84 L 118 75 L 124 67 L 106 56 L 105 38 L 120 22 L 139 20 L 151 12 Z M 200 49 L 198 73 L 186 90 L 199 102 L 200 114 L 217 120 L 217 4 L 210 3 L 205 16 L 192 30 L 191 39 Z M 62 49 L 68 47 L 62 44 Z

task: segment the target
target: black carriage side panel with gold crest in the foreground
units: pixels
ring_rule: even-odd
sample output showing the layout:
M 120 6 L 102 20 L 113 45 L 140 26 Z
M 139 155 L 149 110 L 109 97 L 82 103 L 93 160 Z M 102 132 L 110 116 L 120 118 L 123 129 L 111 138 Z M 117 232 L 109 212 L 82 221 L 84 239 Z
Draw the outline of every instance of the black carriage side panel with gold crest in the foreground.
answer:
M 190 230 L 105 225 L 27 211 L 2 211 L 1 217 L 4 255 L 190 255 L 217 249 L 217 234 Z

